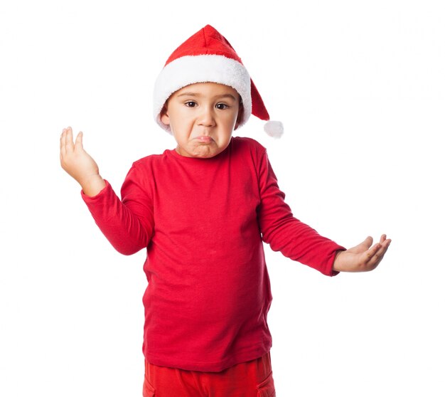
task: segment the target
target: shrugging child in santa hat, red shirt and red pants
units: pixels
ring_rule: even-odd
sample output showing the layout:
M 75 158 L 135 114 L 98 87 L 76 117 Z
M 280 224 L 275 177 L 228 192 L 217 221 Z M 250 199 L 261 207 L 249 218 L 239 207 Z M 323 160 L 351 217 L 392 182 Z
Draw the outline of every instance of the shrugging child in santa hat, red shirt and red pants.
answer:
M 232 137 L 250 114 L 269 120 L 232 46 L 205 26 L 156 80 L 154 115 L 176 149 L 135 162 L 122 201 L 82 133 L 63 129 L 61 164 L 97 225 L 119 252 L 147 250 L 144 396 L 275 395 L 263 241 L 331 276 L 374 269 L 390 245 L 345 250 L 294 218 L 264 147 Z

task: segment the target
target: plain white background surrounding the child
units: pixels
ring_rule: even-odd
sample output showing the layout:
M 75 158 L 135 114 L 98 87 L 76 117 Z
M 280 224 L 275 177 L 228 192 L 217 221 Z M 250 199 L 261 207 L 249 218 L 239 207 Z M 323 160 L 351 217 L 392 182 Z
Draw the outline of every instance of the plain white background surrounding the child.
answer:
M 141 396 L 144 252 L 116 253 L 60 168 L 71 125 L 119 191 L 174 147 L 156 75 L 210 23 L 280 140 L 252 117 L 295 215 L 374 272 L 324 277 L 266 247 L 279 397 L 444 396 L 442 1 L 1 1 L 0 396 Z M 242 205 L 242 203 L 240 203 Z

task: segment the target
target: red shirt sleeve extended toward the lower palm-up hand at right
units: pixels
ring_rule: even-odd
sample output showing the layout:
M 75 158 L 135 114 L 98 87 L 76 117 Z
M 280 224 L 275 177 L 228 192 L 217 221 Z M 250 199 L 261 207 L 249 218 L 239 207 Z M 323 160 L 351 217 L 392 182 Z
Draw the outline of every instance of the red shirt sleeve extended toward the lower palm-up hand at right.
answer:
M 287 258 L 309 265 L 324 275 L 337 275 L 332 269 L 333 261 L 337 251 L 345 248 L 294 217 L 278 187 L 267 152 L 260 159 L 258 177 L 261 196 L 258 218 L 263 241 Z

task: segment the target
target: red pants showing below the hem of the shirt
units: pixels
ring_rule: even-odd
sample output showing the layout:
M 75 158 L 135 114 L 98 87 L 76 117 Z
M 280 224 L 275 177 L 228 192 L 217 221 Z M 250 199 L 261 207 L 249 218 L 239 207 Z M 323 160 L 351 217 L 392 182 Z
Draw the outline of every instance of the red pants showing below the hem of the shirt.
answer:
M 275 397 L 270 354 L 221 372 L 145 363 L 144 397 Z

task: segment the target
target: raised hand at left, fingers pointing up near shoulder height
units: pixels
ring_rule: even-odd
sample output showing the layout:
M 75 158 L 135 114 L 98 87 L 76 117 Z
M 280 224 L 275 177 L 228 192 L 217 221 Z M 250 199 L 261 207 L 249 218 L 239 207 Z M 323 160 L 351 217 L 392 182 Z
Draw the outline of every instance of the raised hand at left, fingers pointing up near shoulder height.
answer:
M 60 165 L 82 186 L 87 196 L 95 196 L 104 187 L 105 181 L 99 174 L 99 167 L 82 144 L 83 133 L 79 132 L 73 141 L 73 129 L 64 128 L 60 136 Z

